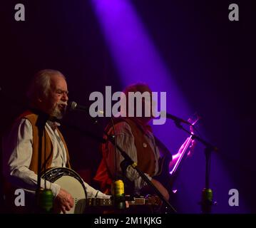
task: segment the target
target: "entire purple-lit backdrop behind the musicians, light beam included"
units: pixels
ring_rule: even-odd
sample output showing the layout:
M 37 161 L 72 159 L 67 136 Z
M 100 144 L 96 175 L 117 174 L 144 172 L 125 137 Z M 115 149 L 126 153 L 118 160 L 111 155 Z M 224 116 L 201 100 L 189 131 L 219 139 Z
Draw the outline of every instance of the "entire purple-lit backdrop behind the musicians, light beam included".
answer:
M 239 3 L 240 21 L 230 22 L 229 1 L 24 1 L 26 21 L 17 22 L 16 2 L 6 1 L 0 9 L 1 134 L 26 108 L 26 86 L 43 68 L 61 71 L 69 99 L 83 105 L 105 86 L 115 92 L 143 81 L 167 92 L 168 112 L 184 119 L 198 112 L 201 135 L 220 148 L 210 173 L 213 212 L 256 212 L 251 2 Z M 63 124 L 74 170 L 94 185 L 101 154 L 91 135 L 101 136 L 101 128 L 82 113 L 68 113 L 65 121 L 85 130 Z M 187 137 L 171 120 L 153 128 L 173 153 Z M 198 143 L 176 181 L 178 212 L 200 213 L 204 175 Z M 232 188 L 240 192 L 239 207 L 228 205 Z

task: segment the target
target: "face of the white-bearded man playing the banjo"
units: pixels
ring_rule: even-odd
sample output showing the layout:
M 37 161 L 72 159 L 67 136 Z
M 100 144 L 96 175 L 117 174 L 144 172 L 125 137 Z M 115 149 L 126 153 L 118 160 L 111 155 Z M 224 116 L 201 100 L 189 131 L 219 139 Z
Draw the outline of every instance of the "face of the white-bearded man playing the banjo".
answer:
M 42 109 L 49 115 L 61 119 L 68 105 L 68 86 L 66 80 L 59 75 L 51 77 L 51 87 L 48 95 L 42 99 Z

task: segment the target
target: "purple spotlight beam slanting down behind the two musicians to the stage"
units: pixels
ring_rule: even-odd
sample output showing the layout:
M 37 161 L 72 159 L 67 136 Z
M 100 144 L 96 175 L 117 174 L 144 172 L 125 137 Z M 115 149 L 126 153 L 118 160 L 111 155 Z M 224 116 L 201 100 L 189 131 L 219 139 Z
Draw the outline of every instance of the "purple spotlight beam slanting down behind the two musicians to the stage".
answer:
M 147 83 L 158 94 L 161 91 L 166 92 L 168 113 L 188 120 L 196 110 L 191 111 L 169 72 L 171 66 L 168 68 L 165 66 L 155 44 L 130 2 L 126 0 L 92 0 L 92 4 L 123 87 L 142 82 Z M 175 127 L 172 120 L 167 120 L 165 125 L 153 125 L 153 130 L 173 154 L 178 152 L 180 145 L 188 138 L 186 133 Z M 180 182 L 180 185 L 185 183 L 182 191 L 179 191 L 181 192 L 180 201 L 184 202 L 184 211 L 199 212 L 198 202 L 200 191 L 204 186 L 205 174 L 202 145 L 194 152 L 192 160 L 187 167 L 187 175 L 183 175 Z M 226 192 L 223 193 L 223 198 L 225 198 L 224 194 L 227 194 L 227 187 L 230 186 L 225 170 L 222 171 L 222 169 L 218 169 L 218 165 L 215 165 L 213 180 L 217 178 L 215 174 L 223 175 L 226 178 L 227 185 L 222 185 L 222 192 Z M 215 187 L 217 188 L 217 186 Z M 195 197 L 198 197 L 198 200 Z M 230 209 L 226 205 L 222 208 Z M 220 209 L 220 212 L 223 211 Z

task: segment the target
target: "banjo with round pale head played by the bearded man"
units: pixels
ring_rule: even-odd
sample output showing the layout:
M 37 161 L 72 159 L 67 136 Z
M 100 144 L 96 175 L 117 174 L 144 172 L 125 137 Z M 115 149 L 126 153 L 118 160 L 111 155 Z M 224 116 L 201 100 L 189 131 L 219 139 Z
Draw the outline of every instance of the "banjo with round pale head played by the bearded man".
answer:
M 83 214 L 88 207 L 113 206 L 113 199 L 87 198 L 86 187 L 82 178 L 75 171 L 66 167 L 53 167 L 43 173 L 42 178 L 56 183 L 69 192 L 74 201 L 74 206 L 66 214 Z M 130 197 L 128 204 L 159 206 L 159 197 Z

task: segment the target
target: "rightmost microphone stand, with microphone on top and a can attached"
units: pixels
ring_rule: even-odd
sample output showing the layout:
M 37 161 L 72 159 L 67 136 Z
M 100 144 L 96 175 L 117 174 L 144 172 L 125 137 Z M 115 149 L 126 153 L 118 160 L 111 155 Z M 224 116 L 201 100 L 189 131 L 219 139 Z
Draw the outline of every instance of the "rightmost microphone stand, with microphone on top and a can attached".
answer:
M 175 125 L 177 128 L 180 128 L 181 130 L 184 130 L 186 133 L 192 136 L 192 139 L 196 139 L 199 142 L 201 142 L 203 145 L 205 145 L 205 187 L 202 191 L 202 198 L 201 198 L 201 211 L 203 214 L 209 214 L 211 212 L 212 206 L 213 206 L 213 191 L 210 189 L 210 155 L 211 152 L 215 151 L 217 152 L 218 148 L 214 145 L 210 144 L 210 142 L 207 142 L 203 140 L 203 138 L 200 138 L 198 135 L 195 135 L 193 133 L 190 133 L 189 130 L 186 130 L 183 128 L 183 126 L 180 124 L 180 120 L 174 120 Z

